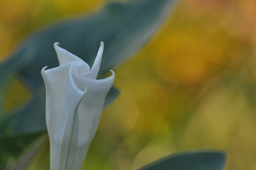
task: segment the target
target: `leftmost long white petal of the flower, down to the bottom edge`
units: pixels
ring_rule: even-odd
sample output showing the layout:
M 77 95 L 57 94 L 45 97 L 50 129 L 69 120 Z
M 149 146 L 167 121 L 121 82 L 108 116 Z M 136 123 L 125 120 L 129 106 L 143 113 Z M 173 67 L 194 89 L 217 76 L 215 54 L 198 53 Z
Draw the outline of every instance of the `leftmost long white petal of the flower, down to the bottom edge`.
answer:
M 41 71 L 46 86 L 46 126 L 50 138 L 51 170 L 58 170 L 65 122 L 65 91 L 70 64 Z M 59 156 L 56 156 L 59 155 Z

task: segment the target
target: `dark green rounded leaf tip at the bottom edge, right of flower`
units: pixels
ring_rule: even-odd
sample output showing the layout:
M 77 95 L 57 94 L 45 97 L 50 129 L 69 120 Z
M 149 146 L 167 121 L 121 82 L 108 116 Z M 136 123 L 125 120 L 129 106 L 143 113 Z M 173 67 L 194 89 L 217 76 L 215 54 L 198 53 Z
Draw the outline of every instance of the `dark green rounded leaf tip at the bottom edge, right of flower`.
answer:
M 173 154 L 139 170 L 222 170 L 226 154 L 219 151 L 196 151 Z

